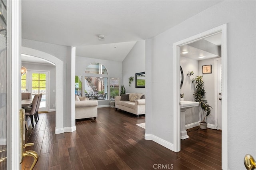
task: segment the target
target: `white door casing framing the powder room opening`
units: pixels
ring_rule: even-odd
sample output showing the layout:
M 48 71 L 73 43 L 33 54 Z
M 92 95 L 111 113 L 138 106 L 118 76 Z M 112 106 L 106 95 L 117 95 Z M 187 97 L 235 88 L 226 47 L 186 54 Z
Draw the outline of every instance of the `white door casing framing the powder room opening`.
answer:
M 173 151 L 180 151 L 180 46 L 202 40 L 214 34 L 222 33 L 222 169 L 228 169 L 228 103 L 227 103 L 227 24 L 202 32 L 173 44 Z M 214 126 L 214 125 L 213 125 Z M 209 127 L 212 127 L 209 125 Z M 215 127 L 215 126 L 214 126 Z

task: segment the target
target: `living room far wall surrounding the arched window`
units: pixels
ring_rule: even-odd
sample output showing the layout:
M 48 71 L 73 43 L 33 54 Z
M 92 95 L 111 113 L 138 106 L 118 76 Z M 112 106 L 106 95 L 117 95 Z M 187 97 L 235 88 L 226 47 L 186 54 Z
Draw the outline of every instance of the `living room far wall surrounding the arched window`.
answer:
M 122 85 L 122 62 L 76 56 L 76 75 L 82 76 L 82 80 L 83 80 L 82 83 L 84 83 L 85 76 L 88 76 L 88 75 L 97 76 L 95 74 L 86 74 L 85 73 L 86 67 L 91 63 L 103 64 L 108 71 L 108 75 L 104 75 L 104 77 L 119 78 L 120 85 Z M 108 84 L 109 83 L 110 83 L 110 79 L 108 79 Z M 108 91 L 110 91 L 110 86 L 108 86 Z M 108 93 L 108 95 L 109 94 L 110 93 Z M 108 99 L 109 100 L 98 100 L 98 105 L 109 105 L 110 104 L 110 95 L 108 96 Z

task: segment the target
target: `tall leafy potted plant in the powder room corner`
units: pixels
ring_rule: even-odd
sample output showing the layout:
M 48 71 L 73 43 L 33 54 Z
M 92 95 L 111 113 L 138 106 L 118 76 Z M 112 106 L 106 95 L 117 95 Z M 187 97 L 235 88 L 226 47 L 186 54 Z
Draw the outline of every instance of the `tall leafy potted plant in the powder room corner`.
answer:
M 201 122 L 200 128 L 206 129 L 207 128 L 207 117 L 211 113 L 212 108 L 208 103 L 207 100 L 204 100 L 205 90 L 204 90 L 204 81 L 203 76 L 196 76 L 195 79 L 192 79 L 192 83 L 196 83 L 196 92 L 194 93 L 195 101 L 199 102 L 200 107 L 202 108 L 201 111 Z

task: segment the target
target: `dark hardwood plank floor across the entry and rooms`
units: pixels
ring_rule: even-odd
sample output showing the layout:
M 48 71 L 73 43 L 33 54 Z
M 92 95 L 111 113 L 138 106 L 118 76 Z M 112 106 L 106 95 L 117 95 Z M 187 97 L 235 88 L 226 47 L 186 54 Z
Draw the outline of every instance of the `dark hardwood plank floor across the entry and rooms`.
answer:
M 176 153 L 144 140 L 145 117 L 98 108 L 98 117 L 76 121 L 76 131 L 54 134 L 55 113 L 41 113 L 34 129 L 26 131 L 26 142 L 34 146 L 38 170 L 221 170 L 221 131 L 188 129 L 190 138 L 181 140 Z M 28 122 L 30 124 L 30 122 Z M 29 169 L 33 158 L 25 157 L 22 169 Z

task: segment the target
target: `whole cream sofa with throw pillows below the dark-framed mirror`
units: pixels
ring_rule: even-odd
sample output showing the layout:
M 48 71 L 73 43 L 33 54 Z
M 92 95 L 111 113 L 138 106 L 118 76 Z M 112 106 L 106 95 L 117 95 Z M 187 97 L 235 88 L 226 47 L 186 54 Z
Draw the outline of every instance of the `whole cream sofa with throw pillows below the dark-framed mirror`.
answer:
M 137 115 L 137 117 L 146 113 L 145 103 L 145 95 L 142 93 L 130 93 L 127 95 L 115 97 L 116 109 L 121 109 L 123 111 L 133 113 Z

